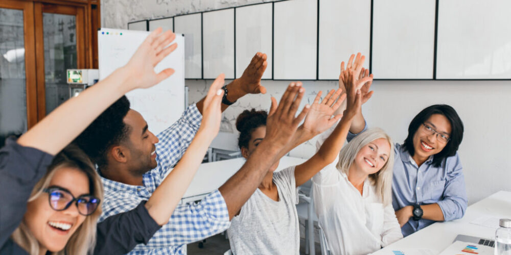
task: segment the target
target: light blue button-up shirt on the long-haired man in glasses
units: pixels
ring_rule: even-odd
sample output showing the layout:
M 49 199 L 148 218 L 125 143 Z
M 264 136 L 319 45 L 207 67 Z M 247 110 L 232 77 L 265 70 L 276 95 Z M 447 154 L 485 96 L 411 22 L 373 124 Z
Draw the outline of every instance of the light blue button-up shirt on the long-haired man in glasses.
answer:
M 362 132 L 366 129 L 367 122 Z M 355 134 L 349 133 L 347 140 L 350 141 L 355 136 Z M 420 167 L 417 166 L 405 147 L 398 143 L 394 146 L 394 153 L 392 206 L 395 211 L 406 206 L 438 203 L 446 221 L 463 217 L 467 210 L 468 200 L 465 179 L 457 153 L 444 160 L 439 167 L 432 164 L 434 155 Z M 410 218 L 401 227 L 401 232 L 406 237 L 434 222 L 433 220 Z

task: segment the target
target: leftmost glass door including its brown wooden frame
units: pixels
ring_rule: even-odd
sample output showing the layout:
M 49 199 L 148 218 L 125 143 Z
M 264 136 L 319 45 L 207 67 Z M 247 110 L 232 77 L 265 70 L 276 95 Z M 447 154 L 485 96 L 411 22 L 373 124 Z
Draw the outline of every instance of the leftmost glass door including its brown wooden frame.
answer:
M 34 6 L 0 2 L 0 146 L 37 122 Z

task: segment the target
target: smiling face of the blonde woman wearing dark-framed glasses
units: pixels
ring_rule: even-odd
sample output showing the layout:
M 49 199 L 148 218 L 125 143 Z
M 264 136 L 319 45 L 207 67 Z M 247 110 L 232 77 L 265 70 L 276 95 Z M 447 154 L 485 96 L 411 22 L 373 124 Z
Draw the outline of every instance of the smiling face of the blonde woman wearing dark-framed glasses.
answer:
M 76 168 L 61 167 L 56 169 L 49 186 L 67 189 L 74 197 L 89 193 L 87 175 Z M 39 242 L 40 247 L 55 252 L 65 247 L 86 216 L 78 213 L 75 202 L 66 210 L 53 210 L 50 207 L 48 196 L 48 193 L 42 193 L 33 201 L 28 202 L 24 221 Z

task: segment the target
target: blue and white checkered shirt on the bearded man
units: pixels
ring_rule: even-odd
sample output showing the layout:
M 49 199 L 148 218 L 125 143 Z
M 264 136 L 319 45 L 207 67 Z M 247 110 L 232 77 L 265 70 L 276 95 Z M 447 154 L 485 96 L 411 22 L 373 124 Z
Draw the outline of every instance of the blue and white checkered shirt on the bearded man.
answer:
M 181 118 L 158 134 L 156 161 L 158 166 L 143 176 L 144 186 L 114 182 L 102 177 L 105 189 L 103 214 L 105 218 L 134 209 L 142 200 L 151 197 L 164 180 L 167 171 L 182 157 L 199 129 L 202 115 L 191 105 Z M 167 224 L 162 226 L 147 245 L 138 244 L 130 254 L 186 254 L 186 244 L 203 240 L 229 227 L 229 213 L 218 190 L 200 202 L 179 205 Z

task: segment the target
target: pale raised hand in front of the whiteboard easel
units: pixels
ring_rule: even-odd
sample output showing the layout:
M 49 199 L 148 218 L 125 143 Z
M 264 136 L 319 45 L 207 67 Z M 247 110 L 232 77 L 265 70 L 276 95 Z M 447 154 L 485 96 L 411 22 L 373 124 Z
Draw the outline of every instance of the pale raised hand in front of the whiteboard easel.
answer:
M 154 72 L 154 67 L 177 47 L 177 43 L 167 47 L 174 41 L 176 35 L 170 30 L 165 33 L 161 31 L 162 29 L 158 28 L 147 36 L 128 64 L 123 67 L 129 75 L 127 80 L 131 85 L 130 89 L 149 88 L 174 73 L 172 68 L 164 69 L 159 73 Z

